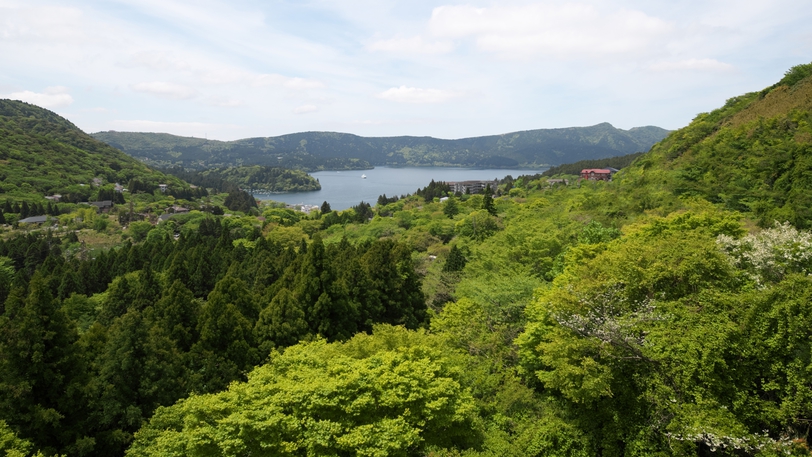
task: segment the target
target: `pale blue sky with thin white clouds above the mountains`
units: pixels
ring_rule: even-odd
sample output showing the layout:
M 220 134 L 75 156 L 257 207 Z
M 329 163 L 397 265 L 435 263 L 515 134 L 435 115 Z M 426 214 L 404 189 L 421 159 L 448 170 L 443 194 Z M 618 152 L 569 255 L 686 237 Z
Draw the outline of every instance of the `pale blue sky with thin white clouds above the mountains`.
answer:
M 0 0 L 0 98 L 218 140 L 677 129 L 812 61 L 809 0 Z

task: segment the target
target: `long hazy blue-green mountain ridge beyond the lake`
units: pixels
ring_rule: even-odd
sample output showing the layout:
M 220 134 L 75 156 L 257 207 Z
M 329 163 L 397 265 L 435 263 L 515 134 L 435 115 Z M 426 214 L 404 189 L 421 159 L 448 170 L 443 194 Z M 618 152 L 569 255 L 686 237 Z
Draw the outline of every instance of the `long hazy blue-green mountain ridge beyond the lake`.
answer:
M 214 141 L 165 133 L 99 132 L 93 137 L 161 166 L 190 168 L 271 165 L 305 170 L 375 165 L 539 167 L 648 151 L 668 135 L 660 127 L 622 130 L 609 123 L 539 129 L 483 137 L 361 137 L 303 132 L 268 138 Z

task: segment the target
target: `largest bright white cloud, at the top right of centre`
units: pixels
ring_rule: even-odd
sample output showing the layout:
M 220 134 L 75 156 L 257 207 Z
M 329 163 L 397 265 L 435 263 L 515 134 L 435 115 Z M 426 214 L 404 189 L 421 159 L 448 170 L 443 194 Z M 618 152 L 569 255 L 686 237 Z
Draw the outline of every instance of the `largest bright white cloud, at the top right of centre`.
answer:
M 673 24 L 640 11 L 602 12 L 580 3 L 474 8 L 435 8 L 435 36 L 474 38 L 484 51 L 508 57 L 561 57 L 650 52 L 674 30 Z

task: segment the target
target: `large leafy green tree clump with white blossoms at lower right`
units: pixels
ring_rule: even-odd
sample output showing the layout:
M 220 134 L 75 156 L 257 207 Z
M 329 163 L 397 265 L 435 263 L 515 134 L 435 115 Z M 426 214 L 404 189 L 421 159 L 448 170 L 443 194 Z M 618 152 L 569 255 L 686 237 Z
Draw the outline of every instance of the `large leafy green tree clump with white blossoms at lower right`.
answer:
M 809 237 L 737 240 L 686 218 L 573 249 L 528 306 L 523 368 L 596 454 L 808 455 L 812 277 L 791 273 Z M 742 268 L 770 282 L 742 287 Z

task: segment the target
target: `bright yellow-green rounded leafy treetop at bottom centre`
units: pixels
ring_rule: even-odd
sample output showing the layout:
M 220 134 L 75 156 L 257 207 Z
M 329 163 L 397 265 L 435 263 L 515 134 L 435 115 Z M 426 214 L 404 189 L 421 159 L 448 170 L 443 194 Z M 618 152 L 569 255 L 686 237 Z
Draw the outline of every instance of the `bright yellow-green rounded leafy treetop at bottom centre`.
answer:
M 159 410 L 127 455 L 405 457 L 476 443 L 460 372 L 436 345 L 403 332 L 288 348 L 248 382 Z

